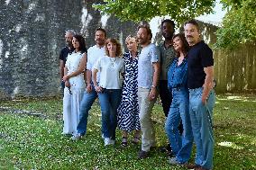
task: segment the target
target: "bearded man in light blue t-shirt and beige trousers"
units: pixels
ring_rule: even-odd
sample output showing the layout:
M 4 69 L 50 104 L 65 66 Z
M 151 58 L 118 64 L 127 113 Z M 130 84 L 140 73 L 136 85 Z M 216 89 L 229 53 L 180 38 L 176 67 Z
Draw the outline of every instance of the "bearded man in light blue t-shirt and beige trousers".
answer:
M 160 75 L 160 54 L 151 43 L 152 33 L 147 25 L 138 27 L 137 38 L 142 46 L 138 61 L 138 103 L 142 127 L 142 150 L 138 158 L 149 157 L 151 148 L 156 147 L 155 130 L 151 120 L 151 111 L 157 99 L 157 85 Z

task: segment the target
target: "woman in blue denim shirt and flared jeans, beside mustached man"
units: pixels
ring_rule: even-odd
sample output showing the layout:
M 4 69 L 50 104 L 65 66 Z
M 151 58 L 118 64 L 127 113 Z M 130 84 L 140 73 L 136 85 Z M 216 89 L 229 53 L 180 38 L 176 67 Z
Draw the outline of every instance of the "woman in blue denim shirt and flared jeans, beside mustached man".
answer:
M 169 159 L 173 165 L 187 163 L 192 150 L 193 134 L 188 108 L 187 88 L 187 51 L 189 45 L 184 33 L 174 35 L 173 48 L 177 52 L 168 71 L 168 86 L 172 93 L 172 103 L 165 123 L 165 130 L 169 138 L 172 154 L 175 157 Z M 178 131 L 178 125 L 182 121 L 183 133 Z

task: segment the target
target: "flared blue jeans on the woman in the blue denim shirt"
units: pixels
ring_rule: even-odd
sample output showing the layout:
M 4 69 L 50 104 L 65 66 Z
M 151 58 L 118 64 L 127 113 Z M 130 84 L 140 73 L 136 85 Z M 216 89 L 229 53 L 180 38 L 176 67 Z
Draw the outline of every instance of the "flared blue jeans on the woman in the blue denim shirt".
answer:
M 175 88 L 172 90 L 172 96 L 165 130 L 177 161 L 183 164 L 188 161 L 193 146 L 193 133 L 188 110 L 188 91 L 186 88 Z M 180 120 L 184 129 L 182 136 L 178 130 Z

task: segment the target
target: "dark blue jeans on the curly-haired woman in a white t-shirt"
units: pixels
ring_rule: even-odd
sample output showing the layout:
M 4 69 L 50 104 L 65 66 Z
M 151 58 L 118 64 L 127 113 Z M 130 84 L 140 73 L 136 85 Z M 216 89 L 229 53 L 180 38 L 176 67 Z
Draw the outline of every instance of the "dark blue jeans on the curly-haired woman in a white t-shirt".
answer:
M 115 139 L 117 127 L 117 108 L 121 101 L 121 89 L 104 89 L 98 93 L 102 114 L 102 132 L 105 138 Z

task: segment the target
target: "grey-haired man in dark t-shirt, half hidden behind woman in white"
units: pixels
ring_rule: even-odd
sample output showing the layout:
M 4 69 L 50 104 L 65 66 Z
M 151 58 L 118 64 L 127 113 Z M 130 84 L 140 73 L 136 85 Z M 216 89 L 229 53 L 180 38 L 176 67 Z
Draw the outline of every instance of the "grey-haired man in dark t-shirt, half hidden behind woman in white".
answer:
M 59 53 L 59 76 L 62 91 L 65 88 L 65 82 L 62 81 L 62 77 L 64 76 L 64 67 L 66 64 L 66 60 L 68 58 L 69 53 L 72 53 L 72 51 L 74 50 L 72 45 L 72 39 L 74 35 L 75 31 L 67 30 L 65 32 L 66 47 L 61 49 Z

